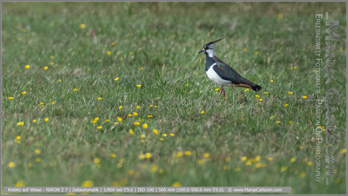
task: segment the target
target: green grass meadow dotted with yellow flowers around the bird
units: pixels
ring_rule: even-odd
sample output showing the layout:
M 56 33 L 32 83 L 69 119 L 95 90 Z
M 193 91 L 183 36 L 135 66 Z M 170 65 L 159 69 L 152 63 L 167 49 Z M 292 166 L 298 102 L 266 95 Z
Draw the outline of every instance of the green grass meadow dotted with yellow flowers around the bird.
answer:
M 314 17 L 323 14 L 325 60 L 326 11 L 340 21 L 340 41 L 332 42 L 335 80 L 325 84 L 323 63 L 316 95 Z M 344 194 L 345 29 L 345 2 L 3 2 L 2 187 Z M 261 92 L 225 88 L 226 99 L 215 100 L 220 87 L 197 52 L 226 36 L 215 55 Z M 330 88 L 340 101 L 331 104 L 336 174 L 325 185 L 325 141 L 315 181 L 315 99 Z

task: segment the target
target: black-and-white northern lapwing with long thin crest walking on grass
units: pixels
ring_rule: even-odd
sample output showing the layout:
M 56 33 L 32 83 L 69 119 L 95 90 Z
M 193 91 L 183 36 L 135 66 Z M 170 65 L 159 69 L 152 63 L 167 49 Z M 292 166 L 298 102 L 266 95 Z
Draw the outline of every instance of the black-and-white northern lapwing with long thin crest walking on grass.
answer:
M 223 87 L 230 86 L 233 88 L 234 86 L 236 86 L 250 88 L 254 91 L 261 90 L 261 87 L 259 85 L 254 84 L 253 82 L 243 78 L 228 64 L 224 63 L 217 56 L 214 55 L 214 43 L 220 41 L 221 39 L 204 44 L 202 50 L 198 52 L 205 53 L 205 71 L 207 73 L 208 78 L 217 85 L 221 86 L 220 94 L 219 96 L 217 96 L 217 99 L 219 99 L 222 92 L 223 97 L 225 97 L 225 90 L 223 90 Z

